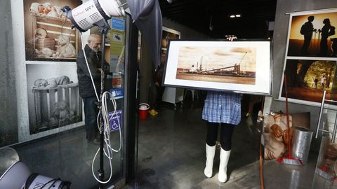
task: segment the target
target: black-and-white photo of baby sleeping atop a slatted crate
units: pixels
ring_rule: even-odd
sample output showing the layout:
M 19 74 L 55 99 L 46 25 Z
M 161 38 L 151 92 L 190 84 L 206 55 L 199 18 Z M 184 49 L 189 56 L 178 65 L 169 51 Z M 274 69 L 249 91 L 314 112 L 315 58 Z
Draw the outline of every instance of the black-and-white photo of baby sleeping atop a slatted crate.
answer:
M 76 65 L 28 64 L 27 90 L 30 134 L 82 121 Z

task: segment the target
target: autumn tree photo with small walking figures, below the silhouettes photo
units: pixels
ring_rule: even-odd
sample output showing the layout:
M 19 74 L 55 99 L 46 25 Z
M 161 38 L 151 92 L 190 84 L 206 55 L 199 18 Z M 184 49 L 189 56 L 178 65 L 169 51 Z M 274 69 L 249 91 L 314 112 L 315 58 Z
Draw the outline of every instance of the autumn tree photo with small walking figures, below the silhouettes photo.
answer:
M 326 90 L 326 99 L 336 99 L 331 95 L 336 80 L 336 61 L 287 59 L 286 90 L 288 97 L 308 102 L 322 102 Z M 285 97 L 284 80 L 281 97 Z

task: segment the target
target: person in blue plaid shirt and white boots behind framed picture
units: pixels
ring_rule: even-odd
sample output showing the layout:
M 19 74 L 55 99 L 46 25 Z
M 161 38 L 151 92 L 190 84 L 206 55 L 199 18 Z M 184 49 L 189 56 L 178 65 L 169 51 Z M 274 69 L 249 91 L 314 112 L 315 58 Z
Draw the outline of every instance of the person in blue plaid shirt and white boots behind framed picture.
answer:
M 229 41 L 235 37 L 227 38 Z M 227 181 L 227 164 L 232 149 L 232 134 L 234 127 L 241 121 L 242 94 L 234 92 L 208 91 L 202 110 L 202 119 L 207 121 L 206 134 L 206 167 L 204 174 L 211 178 L 213 160 L 216 153 L 218 126 L 220 125 L 220 165 L 218 181 Z

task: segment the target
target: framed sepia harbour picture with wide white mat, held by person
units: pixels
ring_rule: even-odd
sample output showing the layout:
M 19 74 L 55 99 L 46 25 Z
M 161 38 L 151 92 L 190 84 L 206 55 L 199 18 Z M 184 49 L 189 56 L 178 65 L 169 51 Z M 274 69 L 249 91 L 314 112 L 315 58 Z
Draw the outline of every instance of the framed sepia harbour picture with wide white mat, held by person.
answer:
M 271 94 L 270 41 L 169 41 L 164 85 Z

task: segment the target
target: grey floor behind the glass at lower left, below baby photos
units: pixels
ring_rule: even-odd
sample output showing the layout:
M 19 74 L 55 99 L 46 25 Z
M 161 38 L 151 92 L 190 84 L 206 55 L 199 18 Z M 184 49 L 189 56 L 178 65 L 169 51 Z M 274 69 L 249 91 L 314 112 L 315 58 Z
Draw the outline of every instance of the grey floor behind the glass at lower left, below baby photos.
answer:
M 118 146 L 118 133 L 113 132 L 114 144 Z M 91 164 L 99 146 L 86 141 L 84 127 L 70 132 L 56 134 L 53 137 L 39 139 L 27 144 L 13 146 L 18 152 L 20 160 L 31 169 L 33 173 L 62 181 L 71 181 L 72 189 L 97 189 L 98 181 L 95 181 Z M 114 148 L 117 148 L 114 146 Z M 110 176 L 110 165 L 105 158 L 104 170 L 106 180 Z M 95 160 L 94 172 L 99 168 L 99 158 Z M 118 179 L 121 174 L 121 154 L 114 153 L 112 159 L 112 181 Z M 1 188 L 3 189 L 3 188 Z M 5 188 L 4 188 L 5 189 Z M 6 188 L 9 189 L 9 188 Z

